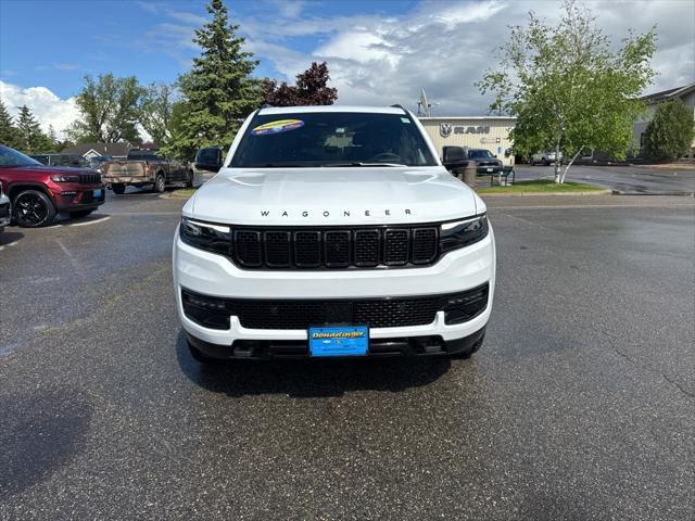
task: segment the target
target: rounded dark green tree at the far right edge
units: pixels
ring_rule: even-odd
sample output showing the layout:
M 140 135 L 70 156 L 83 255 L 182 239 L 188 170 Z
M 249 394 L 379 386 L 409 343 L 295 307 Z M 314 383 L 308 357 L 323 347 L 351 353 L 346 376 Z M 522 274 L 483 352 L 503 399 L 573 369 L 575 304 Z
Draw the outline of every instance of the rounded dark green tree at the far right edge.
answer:
M 644 154 L 649 160 L 678 160 L 693 145 L 693 109 L 682 100 L 659 103 L 644 136 Z

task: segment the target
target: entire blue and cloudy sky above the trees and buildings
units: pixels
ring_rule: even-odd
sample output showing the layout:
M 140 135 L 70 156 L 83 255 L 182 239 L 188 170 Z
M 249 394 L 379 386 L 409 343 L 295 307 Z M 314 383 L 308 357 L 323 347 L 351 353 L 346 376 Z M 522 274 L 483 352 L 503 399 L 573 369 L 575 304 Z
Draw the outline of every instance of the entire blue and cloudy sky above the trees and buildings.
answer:
M 292 81 L 326 61 L 339 104 L 416 110 L 424 88 L 433 115 L 488 112 L 473 85 L 495 67 L 509 25 L 533 11 L 558 20 L 555 0 L 226 0 L 254 75 Z M 614 46 L 630 28 L 657 25 L 658 76 L 645 93 L 695 79 L 695 1 L 587 1 Z M 208 18 L 205 0 L 0 0 L 0 99 L 26 104 L 62 134 L 77 116 L 86 74 L 135 75 L 172 82 L 200 50 L 193 30 Z

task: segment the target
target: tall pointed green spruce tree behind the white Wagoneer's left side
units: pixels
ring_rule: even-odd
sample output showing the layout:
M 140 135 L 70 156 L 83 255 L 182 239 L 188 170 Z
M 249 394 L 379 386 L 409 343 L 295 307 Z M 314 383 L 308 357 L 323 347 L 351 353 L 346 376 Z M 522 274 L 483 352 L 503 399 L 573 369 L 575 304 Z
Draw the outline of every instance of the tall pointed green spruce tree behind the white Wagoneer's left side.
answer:
M 229 23 L 222 0 L 212 0 L 207 12 L 212 21 L 197 29 L 193 38 L 201 55 L 178 81 L 186 118 L 178 122 L 168 149 L 181 157 L 190 157 L 201 147 L 229 145 L 240 120 L 262 101 L 258 81 L 250 76 L 258 62 L 242 50 L 239 26 Z

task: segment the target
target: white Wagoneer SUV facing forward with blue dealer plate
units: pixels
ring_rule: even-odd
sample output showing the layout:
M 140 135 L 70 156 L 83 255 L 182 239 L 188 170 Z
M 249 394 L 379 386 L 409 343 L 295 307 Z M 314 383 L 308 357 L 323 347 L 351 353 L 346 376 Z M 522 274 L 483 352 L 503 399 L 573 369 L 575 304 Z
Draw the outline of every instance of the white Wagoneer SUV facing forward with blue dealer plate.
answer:
M 176 230 L 189 348 L 467 357 L 495 287 L 485 209 L 400 106 L 261 109 Z

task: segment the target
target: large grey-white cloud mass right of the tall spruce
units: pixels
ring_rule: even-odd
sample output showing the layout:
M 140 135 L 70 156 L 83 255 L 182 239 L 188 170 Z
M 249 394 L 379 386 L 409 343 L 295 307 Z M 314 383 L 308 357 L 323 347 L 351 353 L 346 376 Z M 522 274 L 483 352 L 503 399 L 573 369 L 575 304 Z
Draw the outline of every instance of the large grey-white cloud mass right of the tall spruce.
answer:
M 309 4 L 311 5 L 311 4 Z M 628 29 L 644 33 L 658 26 L 659 73 L 648 91 L 695 79 L 695 2 L 620 2 L 590 4 L 598 25 L 617 47 Z M 560 3 L 545 0 L 426 1 L 416 9 L 354 16 L 315 16 L 305 9 L 299 18 L 274 21 L 273 30 L 257 20 L 241 20 L 249 50 L 269 60 L 293 80 L 312 61 L 328 62 L 340 104 L 402 103 L 416 107 L 420 88 L 438 102 L 435 114 L 485 114 L 490 103 L 473 85 L 497 62 L 495 50 L 509 35 L 508 25 L 526 24 L 533 11 L 557 22 Z M 292 37 L 314 37 L 306 52 L 291 50 Z

